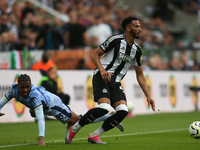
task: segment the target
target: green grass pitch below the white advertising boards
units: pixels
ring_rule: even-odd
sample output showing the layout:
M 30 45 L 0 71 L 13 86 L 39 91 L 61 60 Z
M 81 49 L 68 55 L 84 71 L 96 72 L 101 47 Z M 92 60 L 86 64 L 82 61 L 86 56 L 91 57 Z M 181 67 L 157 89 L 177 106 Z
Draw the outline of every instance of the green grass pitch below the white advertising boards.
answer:
M 56 120 L 46 121 L 46 146 L 37 146 L 38 126 L 33 123 L 1 123 L 0 150 L 192 150 L 200 148 L 200 140 L 188 133 L 189 125 L 200 121 L 200 112 L 159 113 L 125 118 L 125 131 L 117 128 L 100 136 L 107 145 L 87 142 L 89 133 L 101 123 L 82 128 L 71 144 L 64 144 L 66 126 Z

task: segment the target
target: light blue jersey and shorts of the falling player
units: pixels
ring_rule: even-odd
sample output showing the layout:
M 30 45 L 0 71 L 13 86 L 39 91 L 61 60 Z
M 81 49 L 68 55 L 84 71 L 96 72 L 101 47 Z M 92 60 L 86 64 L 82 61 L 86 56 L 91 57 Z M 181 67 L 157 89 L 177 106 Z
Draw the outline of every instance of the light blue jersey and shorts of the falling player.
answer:
M 62 123 L 68 122 L 71 118 L 70 107 L 65 105 L 58 96 L 46 91 L 42 86 L 35 87 L 31 84 L 31 91 L 28 97 L 22 97 L 17 83 L 12 84 L 12 87 L 0 99 L 0 110 L 12 98 L 15 98 L 32 111 L 35 111 L 39 123 L 39 136 L 44 136 L 44 114 L 54 116 Z

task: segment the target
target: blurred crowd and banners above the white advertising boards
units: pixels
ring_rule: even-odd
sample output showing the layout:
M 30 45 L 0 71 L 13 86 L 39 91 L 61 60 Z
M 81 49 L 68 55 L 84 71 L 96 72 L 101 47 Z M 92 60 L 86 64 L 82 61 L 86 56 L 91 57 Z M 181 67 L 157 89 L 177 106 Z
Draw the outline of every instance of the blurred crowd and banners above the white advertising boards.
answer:
M 58 69 L 93 69 L 91 52 L 136 16 L 144 69 L 199 70 L 198 0 L 0 0 L 0 68 L 31 69 L 48 51 Z M 78 63 L 80 62 L 80 63 Z M 134 69 L 134 68 L 130 68 Z

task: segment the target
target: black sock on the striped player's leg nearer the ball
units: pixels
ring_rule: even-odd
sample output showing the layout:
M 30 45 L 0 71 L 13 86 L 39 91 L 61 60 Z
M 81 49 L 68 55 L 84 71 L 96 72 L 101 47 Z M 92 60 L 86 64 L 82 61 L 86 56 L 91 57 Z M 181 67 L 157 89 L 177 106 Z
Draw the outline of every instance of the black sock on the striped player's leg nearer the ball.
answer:
M 116 114 L 110 116 L 109 118 L 107 118 L 104 121 L 104 123 L 102 125 L 102 128 L 105 131 L 108 131 L 108 130 L 114 128 L 120 122 L 122 122 L 122 120 L 127 116 L 127 114 L 128 114 L 128 112 L 124 111 L 124 110 L 117 111 Z

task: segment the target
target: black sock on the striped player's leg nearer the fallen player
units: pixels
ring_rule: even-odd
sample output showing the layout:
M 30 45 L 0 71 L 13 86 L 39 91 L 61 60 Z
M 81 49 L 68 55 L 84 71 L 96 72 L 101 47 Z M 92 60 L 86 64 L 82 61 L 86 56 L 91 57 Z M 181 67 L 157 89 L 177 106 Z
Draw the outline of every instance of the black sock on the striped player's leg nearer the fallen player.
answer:
M 83 127 L 86 124 L 93 122 L 95 119 L 107 114 L 108 111 L 103 108 L 90 109 L 79 121 L 79 124 Z

